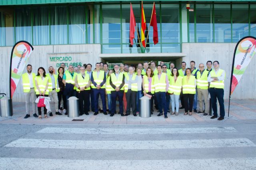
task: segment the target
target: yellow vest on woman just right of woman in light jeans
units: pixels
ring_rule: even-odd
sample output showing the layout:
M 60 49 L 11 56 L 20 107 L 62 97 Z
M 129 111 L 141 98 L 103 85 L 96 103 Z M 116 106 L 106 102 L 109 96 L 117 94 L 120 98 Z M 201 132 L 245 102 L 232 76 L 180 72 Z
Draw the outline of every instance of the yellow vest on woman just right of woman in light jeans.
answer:
M 194 75 L 190 75 L 188 81 L 188 76 L 184 76 L 182 78 L 182 92 L 183 94 L 196 94 L 196 86 L 195 86 L 195 79 Z

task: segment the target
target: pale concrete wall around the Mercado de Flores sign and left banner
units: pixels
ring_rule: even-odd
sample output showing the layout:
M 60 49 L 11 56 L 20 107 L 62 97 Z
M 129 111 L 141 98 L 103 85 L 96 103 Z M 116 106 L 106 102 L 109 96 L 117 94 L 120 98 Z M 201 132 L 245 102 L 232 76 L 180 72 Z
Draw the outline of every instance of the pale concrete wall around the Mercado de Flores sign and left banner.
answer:
M 28 63 L 32 65 L 32 72 L 36 73 L 38 67 L 44 67 L 48 72 L 47 53 L 64 53 L 64 52 L 88 52 L 89 57 L 84 57 L 82 63 L 91 63 L 93 66 L 100 61 L 98 57 L 101 53 L 100 44 L 78 44 L 78 45 L 35 45 L 34 51 L 30 55 Z M 0 47 L 0 62 L 1 62 L 1 85 L 0 93 L 9 95 L 9 69 L 10 55 L 12 47 Z M 26 69 L 24 70 L 24 73 Z M 22 81 L 19 81 L 18 87 L 13 95 L 13 101 L 25 101 L 22 89 Z

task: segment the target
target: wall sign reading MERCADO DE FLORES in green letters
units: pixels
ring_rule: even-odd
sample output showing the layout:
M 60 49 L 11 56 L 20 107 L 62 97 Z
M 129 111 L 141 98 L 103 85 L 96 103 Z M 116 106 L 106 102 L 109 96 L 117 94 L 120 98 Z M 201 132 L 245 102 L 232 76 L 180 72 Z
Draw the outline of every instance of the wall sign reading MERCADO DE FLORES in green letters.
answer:
M 70 52 L 70 53 L 47 53 L 48 65 L 53 66 L 55 69 L 60 67 L 61 63 L 65 63 L 66 67 L 73 65 L 83 65 L 88 60 L 88 52 Z

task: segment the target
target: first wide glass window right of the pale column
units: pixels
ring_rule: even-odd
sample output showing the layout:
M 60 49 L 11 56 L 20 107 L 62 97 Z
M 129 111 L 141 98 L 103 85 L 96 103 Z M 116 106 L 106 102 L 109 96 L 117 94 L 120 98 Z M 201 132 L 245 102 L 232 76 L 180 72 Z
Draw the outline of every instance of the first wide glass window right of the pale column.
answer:
M 196 4 L 196 42 L 213 42 L 212 4 Z

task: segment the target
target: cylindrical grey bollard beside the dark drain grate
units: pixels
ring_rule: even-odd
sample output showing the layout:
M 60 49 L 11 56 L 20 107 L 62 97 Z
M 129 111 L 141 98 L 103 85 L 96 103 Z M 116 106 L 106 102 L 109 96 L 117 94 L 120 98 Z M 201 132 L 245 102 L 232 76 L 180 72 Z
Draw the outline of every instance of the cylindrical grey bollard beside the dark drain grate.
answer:
M 79 117 L 78 98 L 74 96 L 68 98 L 68 117 L 71 117 L 71 118 Z

